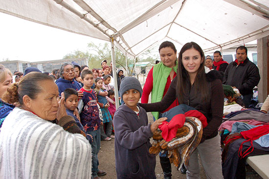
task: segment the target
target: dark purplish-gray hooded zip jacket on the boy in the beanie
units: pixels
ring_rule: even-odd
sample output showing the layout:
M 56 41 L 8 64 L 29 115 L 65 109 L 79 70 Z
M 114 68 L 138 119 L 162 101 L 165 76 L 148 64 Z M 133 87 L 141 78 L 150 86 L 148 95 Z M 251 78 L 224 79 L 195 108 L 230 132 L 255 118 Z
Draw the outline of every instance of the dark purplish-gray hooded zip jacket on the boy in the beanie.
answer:
M 156 158 L 149 153 L 151 124 L 146 111 L 139 109 L 137 115 L 122 104 L 114 114 L 117 179 L 156 179 Z

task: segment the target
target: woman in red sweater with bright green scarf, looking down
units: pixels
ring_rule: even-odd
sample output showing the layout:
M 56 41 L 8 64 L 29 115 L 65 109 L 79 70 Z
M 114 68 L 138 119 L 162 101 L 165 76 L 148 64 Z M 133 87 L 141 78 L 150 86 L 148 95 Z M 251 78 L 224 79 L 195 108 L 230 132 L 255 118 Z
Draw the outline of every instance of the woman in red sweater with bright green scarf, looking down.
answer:
M 172 80 L 177 75 L 177 49 L 172 42 L 165 41 L 159 46 L 159 54 L 161 63 L 158 63 L 148 73 L 146 83 L 143 88 L 141 103 L 148 103 L 151 93 L 151 102 L 159 102 L 166 94 Z M 179 105 L 176 99 L 165 111 Z M 152 112 L 154 120 L 158 119 L 159 112 Z M 164 179 L 171 179 L 171 164 L 169 158 L 160 155 L 160 163 L 164 174 Z

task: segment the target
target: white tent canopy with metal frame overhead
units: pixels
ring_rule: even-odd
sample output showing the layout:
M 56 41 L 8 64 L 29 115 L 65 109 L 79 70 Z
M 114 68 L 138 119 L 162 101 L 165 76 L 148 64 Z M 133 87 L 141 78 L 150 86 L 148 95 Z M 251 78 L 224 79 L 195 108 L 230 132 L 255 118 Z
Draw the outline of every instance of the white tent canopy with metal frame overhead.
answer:
M 269 35 L 269 0 L 1 0 L 0 12 L 113 39 L 133 58 L 164 40 L 210 52 Z

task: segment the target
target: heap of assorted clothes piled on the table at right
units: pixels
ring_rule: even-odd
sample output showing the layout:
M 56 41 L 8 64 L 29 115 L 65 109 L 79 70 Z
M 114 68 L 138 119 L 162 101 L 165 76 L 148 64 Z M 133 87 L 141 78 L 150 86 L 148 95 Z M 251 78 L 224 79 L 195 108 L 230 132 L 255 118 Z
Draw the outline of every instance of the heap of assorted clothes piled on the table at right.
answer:
M 231 90 L 224 87 L 226 101 L 219 127 L 223 176 L 224 179 L 246 179 L 247 157 L 269 154 L 269 114 L 246 109 L 240 95 Z

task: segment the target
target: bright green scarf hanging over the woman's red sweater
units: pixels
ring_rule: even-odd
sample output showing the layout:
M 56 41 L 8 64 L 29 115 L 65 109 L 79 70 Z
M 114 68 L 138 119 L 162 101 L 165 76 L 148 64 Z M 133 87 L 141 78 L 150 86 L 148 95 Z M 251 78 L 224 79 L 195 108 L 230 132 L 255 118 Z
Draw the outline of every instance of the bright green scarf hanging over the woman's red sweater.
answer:
M 174 71 L 177 72 L 178 61 L 176 60 L 176 66 L 173 67 Z M 172 68 L 166 67 L 163 63 L 158 63 L 153 68 L 153 89 L 151 91 L 151 102 L 159 102 L 162 99 L 163 91 L 167 82 L 168 75 Z M 152 112 L 155 119 L 159 118 L 159 112 Z

